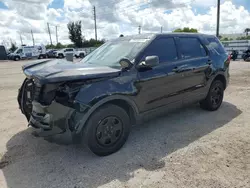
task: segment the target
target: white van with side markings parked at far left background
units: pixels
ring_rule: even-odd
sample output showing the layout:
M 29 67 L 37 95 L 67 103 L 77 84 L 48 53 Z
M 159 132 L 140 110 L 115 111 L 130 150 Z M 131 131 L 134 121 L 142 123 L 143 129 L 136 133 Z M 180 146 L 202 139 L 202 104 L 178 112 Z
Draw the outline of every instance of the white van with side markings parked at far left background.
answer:
M 44 45 L 21 46 L 14 53 L 9 54 L 8 58 L 15 61 L 31 58 L 44 59 L 46 58 L 46 48 Z

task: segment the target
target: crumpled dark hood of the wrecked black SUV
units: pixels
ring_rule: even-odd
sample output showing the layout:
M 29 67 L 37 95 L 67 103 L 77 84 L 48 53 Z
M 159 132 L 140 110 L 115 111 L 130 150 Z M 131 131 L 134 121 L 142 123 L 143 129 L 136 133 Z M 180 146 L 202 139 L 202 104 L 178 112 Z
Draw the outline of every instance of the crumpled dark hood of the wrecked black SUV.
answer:
M 27 77 L 38 79 L 40 83 L 115 77 L 121 72 L 119 69 L 111 67 L 72 63 L 61 59 L 38 60 L 26 64 L 22 68 Z

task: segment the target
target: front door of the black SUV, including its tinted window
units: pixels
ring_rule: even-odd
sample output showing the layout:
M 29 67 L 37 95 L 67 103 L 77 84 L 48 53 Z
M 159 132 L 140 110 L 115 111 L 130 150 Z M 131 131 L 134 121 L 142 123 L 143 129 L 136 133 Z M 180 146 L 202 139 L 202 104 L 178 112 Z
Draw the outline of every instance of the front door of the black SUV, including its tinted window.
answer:
M 179 106 L 182 104 L 181 91 L 184 74 L 178 72 L 178 67 L 183 63 L 180 61 L 174 37 L 157 37 L 143 52 L 141 61 L 147 56 L 158 56 L 159 65 L 150 70 L 138 70 L 137 105 L 139 111 L 163 107 L 169 104 Z M 178 67 L 177 67 L 178 66 Z

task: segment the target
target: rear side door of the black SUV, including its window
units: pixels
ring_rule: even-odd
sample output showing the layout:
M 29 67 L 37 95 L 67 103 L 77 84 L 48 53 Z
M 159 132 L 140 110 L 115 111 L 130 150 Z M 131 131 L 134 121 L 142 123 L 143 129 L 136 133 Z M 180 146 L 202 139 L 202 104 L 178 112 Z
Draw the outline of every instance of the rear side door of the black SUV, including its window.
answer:
M 201 40 L 195 36 L 178 37 L 178 49 L 180 52 L 183 67 L 180 72 L 184 73 L 183 84 L 183 102 L 191 103 L 204 98 L 206 95 L 204 87 L 207 82 L 211 60 L 208 56 L 206 47 Z

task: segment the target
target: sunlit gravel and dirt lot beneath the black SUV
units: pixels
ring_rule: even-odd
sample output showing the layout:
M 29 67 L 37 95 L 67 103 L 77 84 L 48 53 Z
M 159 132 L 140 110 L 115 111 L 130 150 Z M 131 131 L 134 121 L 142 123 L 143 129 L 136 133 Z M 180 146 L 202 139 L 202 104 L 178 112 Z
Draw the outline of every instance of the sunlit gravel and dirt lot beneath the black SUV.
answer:
M 108 157 L 31 135 L 17 89 L 25 62 L 0 63 L 0 187 L 250 187 L 250 63 L 231 63 L 222 108 L 198 105 L 137 126 Z

